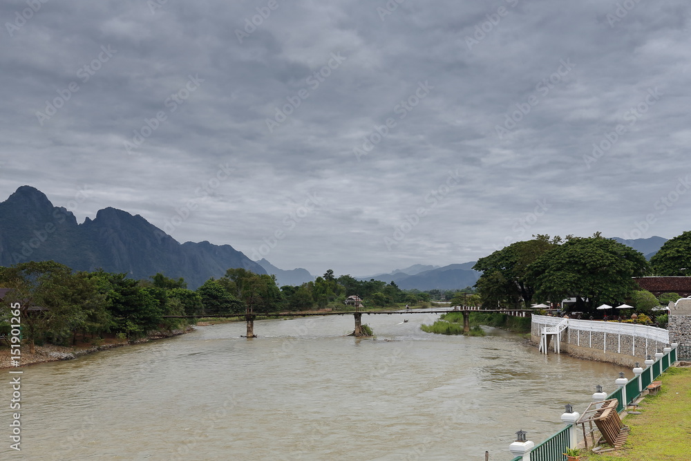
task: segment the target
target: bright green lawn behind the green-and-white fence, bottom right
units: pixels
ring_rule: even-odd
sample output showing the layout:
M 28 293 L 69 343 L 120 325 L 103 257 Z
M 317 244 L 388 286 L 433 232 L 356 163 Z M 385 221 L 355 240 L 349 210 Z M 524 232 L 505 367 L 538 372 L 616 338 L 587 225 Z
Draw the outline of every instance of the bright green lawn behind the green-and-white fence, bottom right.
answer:
M 669 368 L 659 378 L 661 391 L 643 399 L 641 415 L 627 415 L 629 439 L 605 455 L 581 455 L 587 461 L 688 460 L 691 434 L 691 368 Z

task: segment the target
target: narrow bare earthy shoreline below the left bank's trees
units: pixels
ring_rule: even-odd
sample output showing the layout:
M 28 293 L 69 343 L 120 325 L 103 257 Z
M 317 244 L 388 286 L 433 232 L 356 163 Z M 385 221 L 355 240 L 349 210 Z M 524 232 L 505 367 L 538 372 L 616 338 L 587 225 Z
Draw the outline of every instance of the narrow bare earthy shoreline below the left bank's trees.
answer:
M 107 350 L 112 348 L 119 348 L 122 346 L 129 346 L 131 344 L 142 344 L 152 341 L 154 339 L 169 338 L 178 335 L 184 335 L 192 331 L 193 328 L 189 327 L 186 330 L 173 330 L 170 332 L 157 332 L 146 338 L 137 339 L 135 341 L 117 341 L 109 344 L 101 344 L 100 346 L 90 346 L 90 347 L 66 347 L 66 346 L 54 346 L 53 344 L 47 344 L 46 346 L 36 346 L 35 353 L 29 353 L 29 346 L 27 344 L 22 344 L 21 346 L 21 359 L 19 359 L 19 366 L 28 366 L 33 364 L 44 364 L 48 361 L 57 360 L 73 360 L 77 357 L 82 357 L 82 355 L 91 354 L 93 352 L 99 352 L 100 350 Z M 3 347 L 0 349 L 0 368 L 15 368 L 12 366 L 12 359 L 14 357 L 10 356 L 10 348 Z

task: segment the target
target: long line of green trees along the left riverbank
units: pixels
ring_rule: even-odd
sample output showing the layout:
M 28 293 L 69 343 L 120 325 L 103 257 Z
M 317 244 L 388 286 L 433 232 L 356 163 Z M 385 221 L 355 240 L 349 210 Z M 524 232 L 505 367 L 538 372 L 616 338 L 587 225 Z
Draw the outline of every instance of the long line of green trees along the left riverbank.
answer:
M 450 299 L 455 292 L 403 291 L 393 282 L 359 281 L 350 275 L 335 277 L 328 270 L 315 281 L 299 286 L 276 286 L 274 276 L 242 268 L 228 269 L 196 290 L 184 279 L 155 274 L 146 280 L 127 274 L 73 271 L 55 261 L 30 261 L 0 267 L 0 288 L 8 288 L 0 306 L 0 333 L 9 330 L 11 303 L 20 303 L 21 332 L 33 352 L 35 344 L 69 345 L 77 339 L 115 335 L 137 339 L 151 332 L 186 328 L 188 319 L 166 316 L 269 314 L 281 310 L 343 308 L 345 298 L 357 294 L 364 303 L 384 307 L 416 305 Z M 472 291 L 471 289 L 468 289 Z

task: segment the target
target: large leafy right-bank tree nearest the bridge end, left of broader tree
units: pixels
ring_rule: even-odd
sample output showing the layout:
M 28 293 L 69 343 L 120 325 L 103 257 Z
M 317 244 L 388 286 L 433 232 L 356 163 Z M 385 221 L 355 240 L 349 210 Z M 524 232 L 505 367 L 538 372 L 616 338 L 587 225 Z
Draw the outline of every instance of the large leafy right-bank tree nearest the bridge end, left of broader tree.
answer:
M 521 300 L 530 305 L 535 288 L 528 267 L 561 242 L 558 236 L 551 239 L 547 235 L 534 237 L 533 240 L 512 243 L 477 260 L 473 269 L 482 271 L 482 275 L 475 287 L 486 307 L 518 305 Z

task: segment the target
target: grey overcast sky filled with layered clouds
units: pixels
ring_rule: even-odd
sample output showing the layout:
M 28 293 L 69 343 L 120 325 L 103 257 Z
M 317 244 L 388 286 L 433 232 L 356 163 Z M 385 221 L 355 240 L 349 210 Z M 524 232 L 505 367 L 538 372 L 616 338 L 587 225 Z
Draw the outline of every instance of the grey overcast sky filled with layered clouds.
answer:
M 688 1 L 43 1 L 0 3 L 1 200 L 313 274 L 691 227 Z

